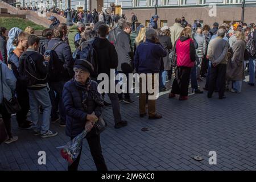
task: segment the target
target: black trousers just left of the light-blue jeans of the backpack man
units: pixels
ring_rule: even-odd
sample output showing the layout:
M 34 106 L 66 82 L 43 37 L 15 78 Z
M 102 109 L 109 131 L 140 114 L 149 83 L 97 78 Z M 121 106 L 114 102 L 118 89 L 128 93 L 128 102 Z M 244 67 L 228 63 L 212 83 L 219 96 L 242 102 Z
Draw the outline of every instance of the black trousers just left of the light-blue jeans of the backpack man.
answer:
M 27 113 L 30 109 L 30 98 L 28 96 L 27 88 L 17 84 L 16 96 L 21 107 L 21 110 L 16 113 L 16 119 L 19 125 L 22 125 L 27 120 Z

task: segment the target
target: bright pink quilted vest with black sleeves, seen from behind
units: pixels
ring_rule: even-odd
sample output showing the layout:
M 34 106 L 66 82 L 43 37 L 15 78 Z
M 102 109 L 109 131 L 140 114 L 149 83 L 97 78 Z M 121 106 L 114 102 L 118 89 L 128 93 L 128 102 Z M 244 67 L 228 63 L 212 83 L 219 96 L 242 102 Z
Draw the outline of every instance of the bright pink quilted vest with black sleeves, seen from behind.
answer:
M 178 67 L 194 67 L 196 50 L 191 38 L 179 38 L 176 42 L 176 53 Z

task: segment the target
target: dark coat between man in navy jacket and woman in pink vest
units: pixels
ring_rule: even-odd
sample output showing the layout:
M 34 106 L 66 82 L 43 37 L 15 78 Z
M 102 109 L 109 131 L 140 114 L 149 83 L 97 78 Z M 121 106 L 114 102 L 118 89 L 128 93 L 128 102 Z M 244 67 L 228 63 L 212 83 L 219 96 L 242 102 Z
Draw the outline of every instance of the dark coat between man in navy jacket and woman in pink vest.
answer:
M 172 49 L 172 42 L 170 36 L 163 35 L 159 36 L 159 42 L 162 44 L 163 48 L 166 49 L 167 56 L 163 57 L 163 67 L 164 70 L 170 70 L 170 60 L 169 60 L 169 54 L 170 50 Z

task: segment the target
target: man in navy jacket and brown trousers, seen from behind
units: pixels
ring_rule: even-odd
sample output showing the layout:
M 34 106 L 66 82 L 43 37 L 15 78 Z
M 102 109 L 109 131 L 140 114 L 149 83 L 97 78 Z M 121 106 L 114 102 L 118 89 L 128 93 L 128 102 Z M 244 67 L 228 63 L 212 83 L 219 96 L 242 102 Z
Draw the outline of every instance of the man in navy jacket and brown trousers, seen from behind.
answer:
M 166 50 L 159 43 L 158 36 L 156 31 L 152 28 L 146 31 L 146 42 L 141 43 L 134 57 L 134 67 L 135 71 L 139 74 L 146 74 L 146 82 L 148 85 L 148 80 L 152 79 L 151 88 L 158 89 L 158 84 L 155 84 L 154 77 L 155 74 L 159 74 L 160 66 L 161 66 L 161 57 L 167 56 Z M 152 74 L 148 75 L 148 74 Z M 158 79 L 157 79 L 158 81 Z M 146 98 L 147 94 L 142 93 L 142 81 L 140 81 L 140 94 L 139 94 L 139 113 L 140 117 L 144 117 L 146 115 Z M 154 89 L 154 92 L 155 92 Z M 147 90 L 148 91 L 148 90 Z M 149 93 L 148 98 L 156 93 Z M 162 115 L 156 113 L 155 109 L 155 99 L 148 99 L 148 119 L 160 119 Z

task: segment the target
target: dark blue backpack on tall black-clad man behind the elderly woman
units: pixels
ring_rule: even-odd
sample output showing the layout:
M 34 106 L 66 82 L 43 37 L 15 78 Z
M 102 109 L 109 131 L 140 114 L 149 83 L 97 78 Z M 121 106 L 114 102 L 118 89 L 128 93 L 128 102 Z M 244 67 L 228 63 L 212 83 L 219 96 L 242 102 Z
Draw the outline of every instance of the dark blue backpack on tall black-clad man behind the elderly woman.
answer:
M 93 42 L 95 39 L 90 39 L 88 41 L 82 42 L 81 50 L 77 52 L 76 59 L 83 59 L 89 61 L 94 68 L 94 71 L 91 73 L 91 76 L 97 78 L 98 76 L 98 60 L 97 53 L 93 47 Z

